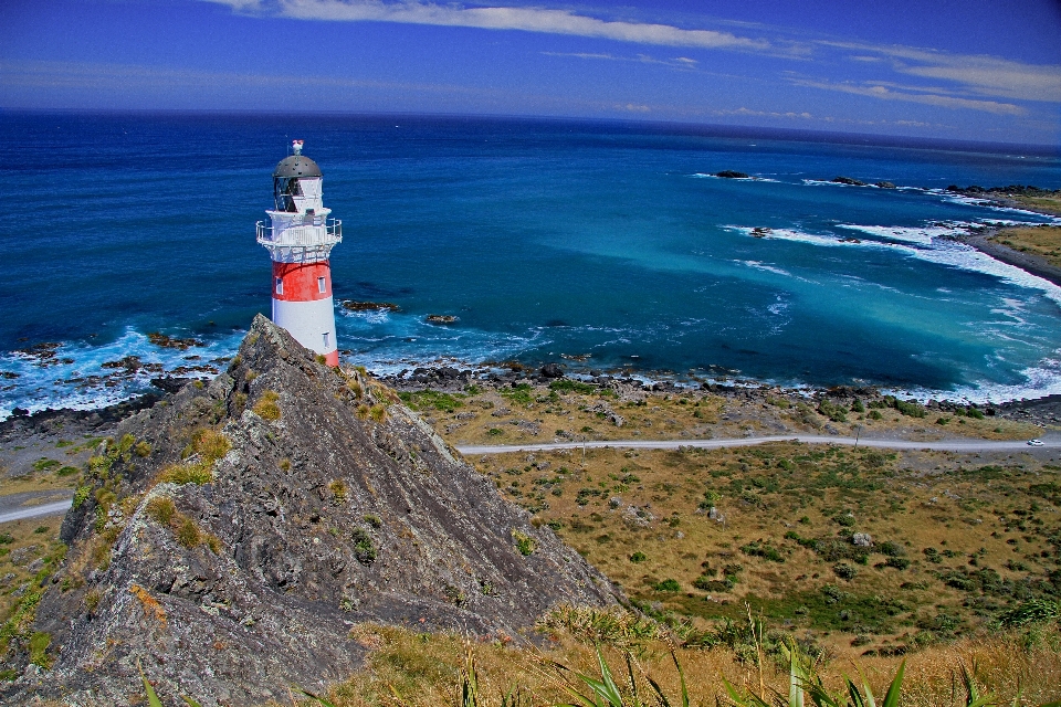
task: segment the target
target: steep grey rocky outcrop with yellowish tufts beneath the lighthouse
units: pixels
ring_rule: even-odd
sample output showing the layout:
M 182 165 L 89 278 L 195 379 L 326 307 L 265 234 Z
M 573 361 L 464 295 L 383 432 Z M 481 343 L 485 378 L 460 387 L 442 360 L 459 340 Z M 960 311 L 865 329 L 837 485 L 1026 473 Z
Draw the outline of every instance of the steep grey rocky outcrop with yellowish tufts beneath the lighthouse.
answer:
M 129 704 L 139 659 L 170 704 L 260 704 L 355 671 L 359 622 L 518 639 L 556 603 L 616 600 L 392 391 L 263 317 L 228 373 L 125 421 L 86 476 L 65 563 L 12 630 L 8 697 Z M 48 669 L 27 665 L 34 633 Z

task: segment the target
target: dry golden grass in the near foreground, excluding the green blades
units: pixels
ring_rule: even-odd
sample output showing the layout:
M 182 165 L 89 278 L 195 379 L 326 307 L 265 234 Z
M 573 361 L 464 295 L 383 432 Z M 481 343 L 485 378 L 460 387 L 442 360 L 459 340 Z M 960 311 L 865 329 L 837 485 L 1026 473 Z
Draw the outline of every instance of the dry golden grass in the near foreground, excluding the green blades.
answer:
M 399 704 L 408 707 L 460 705 L 460 668 L 464 652 L 471 650 L 480 683 L 483 707 L 501 704 L 501 696 L 518 688 L 535 706 L 569 701 L 561 692 L 551 663 L 556 662 L 590 676 L 599 676 L 592 647 L 564 634 L 550 636 L 546 648 L 525 648 L 468 642 L 452 634 L 414 634 L 389 626 L 360 625 L 354 637 L 370 650 L 366 669 L 335 686 L 327 698 L 336 707 L 376 707 Z M 964 704 L 960 671 L 969 668 L 978 685 L 1009 704 L 1020 692 L 1022 705 L 1041 704 L 1061 696 L 1061 635 L 1050 630 L 1033 645 L 1017 634 L 981 636 L 948 645 L 932 646 L 905 658 L 833 659 L 819 663 L 827 686 L 842 687 L 842 674 L 861 669 L 874 693 L 883 694 L 902 659 L 906 661 L 903 701 L 907 707 Z M 603 656 L 618 674 L 626 669 L 623 654 L 603 647 Z M 758 692 L 760 673 L 754 664 L 738 662 L 726 648 L 679 650 L 689 685 L 691 704 L 716 705 L 725 697 L 722 678 L 749 692 Z M 668 695 L 677 695 L 680 682 L 665 644 L 654 642 L 635 659 L 635 669 L 655 679 Z M 771 661 L 764 664 L 761 680 L 767 689 L 787 694 L 787 669 Z M 315 704 L 315 703 L 314 703 Z M 722 704 L 727 704 L 723 701 Z

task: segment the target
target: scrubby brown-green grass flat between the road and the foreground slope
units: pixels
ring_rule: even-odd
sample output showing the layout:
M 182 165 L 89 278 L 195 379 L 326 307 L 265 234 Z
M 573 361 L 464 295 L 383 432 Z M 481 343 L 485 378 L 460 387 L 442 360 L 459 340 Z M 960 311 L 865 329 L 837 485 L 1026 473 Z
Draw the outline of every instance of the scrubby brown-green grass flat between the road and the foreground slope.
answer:
M 534 458 L 547 466 L 525 453 L 476 466 L 639 605 L 700 631 L 738 620 L 748 601 L 854 658 L 986 631 L 1021 602 L 1061 598 L 1061 469 L 1023 455 L 969 465 L 777 443 Z M 725 523 L 708 518 L 707 497 Z

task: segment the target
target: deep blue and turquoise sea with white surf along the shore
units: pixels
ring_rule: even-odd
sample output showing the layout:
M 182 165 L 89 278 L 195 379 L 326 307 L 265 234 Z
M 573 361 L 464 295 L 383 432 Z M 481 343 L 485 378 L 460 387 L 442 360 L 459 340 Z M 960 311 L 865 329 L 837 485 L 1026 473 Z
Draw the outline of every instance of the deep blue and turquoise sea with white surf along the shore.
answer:
M 202 374 L 230 356 L 269 312 L 254 222 L 292 138 L 344 221 L 336 297 L 401 307 L 337 308 L 346 360 L 370 369 L 566 359 L 974 400 L 1061 392 L 1061 288 L 946 238 L 1049 219 L 943 192 L 1061 188 L 1057 154 L 410 116 L 0 114 L 0 415 L 143 389 L 157 372 L 102 367 L 124 356 Z M 707 176 L 723 169 L 759 179 Z M 901 189 L 821 181 L 838 175 Z M 156 330 L 207 346 L 161 349 Z M 18 351 L 40 342 L 61 346 Z

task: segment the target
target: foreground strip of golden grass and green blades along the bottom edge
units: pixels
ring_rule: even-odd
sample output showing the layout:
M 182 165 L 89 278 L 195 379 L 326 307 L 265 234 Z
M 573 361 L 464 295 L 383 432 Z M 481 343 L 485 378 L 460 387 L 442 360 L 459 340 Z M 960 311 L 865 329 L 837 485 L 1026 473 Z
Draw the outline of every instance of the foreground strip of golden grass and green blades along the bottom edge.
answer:
M 744 623 L 745 635 L 754 633 L 766 642 L 768 631 L 761 635 L 761 627 L 752 631 L 747 616 Z M 755 621 L 753 624 L 758 625 Z M 333 686 L 325 695 L 314 695 L 317 701 L 313 704 L 633 706 L 639 703 L 630 688 L 632 679 L 643 705 L 677 707 L 685 704 L 685 693 L 689 705 L 761 707 L 763 703 L 755 698 L 769 700 L 775 694 L 785 698 L 781 704 L 789 704 L 794 672 L 805 678 L 807 704 L 812 703 L 817 688 L 820 701 L 813 704 L 818 705 L 848 704 L 852 693 L 845 674 L 857 674 L 852 682 L 858 693 L 864 698 L 871 692 L 881 705 L 896 704 L 894 697 L 886 700 L 892 685 L 901 682 L 901 704 L 906 707 L 956 705 L 958 700 L 967 705 L 968 688 L 963 674 L 969 676 L 977 695 L 992 693 L 1004 704 L 1009 704 L 1018 690 L 1023 705 L 1057 699 L 1061 685 L 1057 679 L 1061 676 L 1061 635 L 1057 629 L 1046 629 L 1032 644 L 1025 634 L 1000 632 L 975 642 L 929 646 L 903 657 L 869 656 L 853 665 L 834 657 L 808 656 L 796 648 L 797 671 L 792 669 L 791 647 L 788 653 L 781 651 L 770 657 L 760 644 L 756 653 L 759 657 L 753 656 L 752 663 L 742 662 L 725 645 L 711 650 L 675 645 L 672 632 L 661 632 L 658 624 L 620 610 L 566 608 L 543 622 L 542 630 L 547 637 L 545 647 L 523 648 L 504 635 L 470 643 L 456 634 L 422 634 L 358 624 L 350 635 L 369 651 L 366 669 Z M 897 679 L 900 673 L 902 678 Z M 611 694 L 619 701 L 605 697 L 609 678 Z M 590 701 L 578 699 L 576 694 Z M 660 703 L 658 695 L 668 701 Z M 731 701 L 734 697 L 736 700 Z M 525 701 L 513 701 L 517 698 Z

